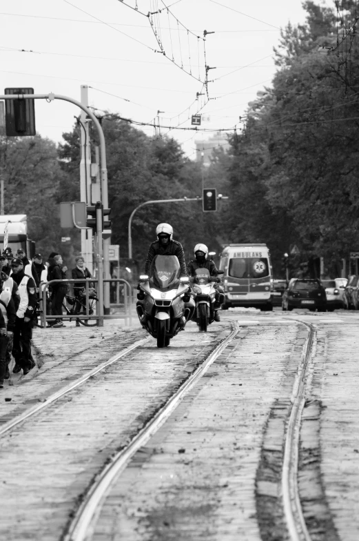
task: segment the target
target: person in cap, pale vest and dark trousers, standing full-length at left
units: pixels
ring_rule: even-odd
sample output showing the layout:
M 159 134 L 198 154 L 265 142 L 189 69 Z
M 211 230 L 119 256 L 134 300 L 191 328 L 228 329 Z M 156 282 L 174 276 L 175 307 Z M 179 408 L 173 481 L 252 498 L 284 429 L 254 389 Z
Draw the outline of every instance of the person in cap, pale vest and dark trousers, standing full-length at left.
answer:
M 23 370 L 26 375 L 35 363 L 31 355 L 32 319 L 36 315 L 37 295 L 36 286 L 32 277 L 25 275 L 23 271 L 23 260 L 16 257 L 11 262 L 11 278 L 19 287 L 20 304 L 17 310 L 14 328 L 14 346 L 12 355 L 15 366 L 12 372 L 17 374 Z

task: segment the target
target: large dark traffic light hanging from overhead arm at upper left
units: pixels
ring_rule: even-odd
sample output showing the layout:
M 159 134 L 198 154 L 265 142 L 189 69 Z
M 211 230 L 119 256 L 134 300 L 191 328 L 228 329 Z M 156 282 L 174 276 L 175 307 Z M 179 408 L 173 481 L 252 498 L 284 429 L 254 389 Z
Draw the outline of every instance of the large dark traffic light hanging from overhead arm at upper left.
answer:
M 5 124 L 8 137 L 36 135 L 34 99 L 22 94 L 34 94 L 33 88 L 6 88 L 5 94 L 19 94 L 19 99 L 5 100 Z

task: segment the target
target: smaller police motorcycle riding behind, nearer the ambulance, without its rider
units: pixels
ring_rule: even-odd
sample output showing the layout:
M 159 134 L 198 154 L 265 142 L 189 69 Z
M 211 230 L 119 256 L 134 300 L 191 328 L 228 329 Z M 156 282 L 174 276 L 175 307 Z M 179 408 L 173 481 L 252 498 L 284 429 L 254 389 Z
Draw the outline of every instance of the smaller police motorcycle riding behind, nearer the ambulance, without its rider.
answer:
M 223 271 L 218 271 L 218 274 L 223 274 Z M 207 268 L 196 269 L 192 285 L 196 308 L 192 320 L 199 326 L 199 330 L 204 332 L 207 331 L 207 326 L 214 321 L 214 303 L 216 302 L 214 282 L 220 282 L 220 278 L 211 276 Z M 220 294 L 220 298 L 222 297 L 224 302 L 224 295 Z

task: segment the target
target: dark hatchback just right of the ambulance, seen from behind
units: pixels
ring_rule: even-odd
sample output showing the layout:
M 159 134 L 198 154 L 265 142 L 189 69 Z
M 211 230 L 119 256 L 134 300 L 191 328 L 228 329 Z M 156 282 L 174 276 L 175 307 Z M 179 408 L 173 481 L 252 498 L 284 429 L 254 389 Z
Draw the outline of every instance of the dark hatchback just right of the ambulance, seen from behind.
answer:
M 283 293 L 282 310 L 291 311 L 293 308 L 308 308 L 311 312 L 325 312 L 327 297 L 325 288 L 318 279 L 292 278 Z

